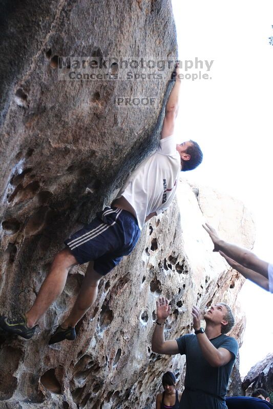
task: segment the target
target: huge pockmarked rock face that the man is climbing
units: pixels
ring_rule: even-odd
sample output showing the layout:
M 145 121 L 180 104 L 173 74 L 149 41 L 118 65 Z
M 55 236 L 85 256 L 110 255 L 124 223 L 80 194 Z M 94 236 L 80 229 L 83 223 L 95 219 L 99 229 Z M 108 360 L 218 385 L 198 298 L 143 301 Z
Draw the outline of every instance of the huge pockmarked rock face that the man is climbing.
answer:
M 90 220 L 159 137 L 171 69 L 158 81 L 57 81 L 56 56 L 175 60 L 169 1 L 2 3 L 1 313 L 25 311 L 62 241 Z M 7 69 L 8 67 L 8 69 Z M 119 97 L 155 97 L 150 109 Z M 159 120 L 158 120 L 159 118 Z M 183 181 L 179 200 L 143 229 L 134 252 L 101 280 L 76 342 L 48 346 L 82 282 L 64 292 L 29 341 L 1 335 L 0 400 L 6 408 L 150 408 L 166 369 L 183 381 L 184 357 L 151 351 L 155 300 L 173 312 L 166 337 L 191 330 L 191 308 L 236 305 L 242 278 L 201 227 L 203 216 L 229 240 L 251 247 L 242 203 Z M 179 208 L 181 208 L 181 219 Z M 5 402 L 5 403 L 4 403 Z

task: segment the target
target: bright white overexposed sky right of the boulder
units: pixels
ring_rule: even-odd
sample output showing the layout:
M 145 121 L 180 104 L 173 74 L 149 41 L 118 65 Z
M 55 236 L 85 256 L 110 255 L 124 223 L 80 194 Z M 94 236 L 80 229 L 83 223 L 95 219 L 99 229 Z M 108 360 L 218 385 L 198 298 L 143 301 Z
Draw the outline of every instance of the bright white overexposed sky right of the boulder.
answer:
M 176 129 L 181 141 L 196 140 L 204 153 L 202 166 L 187 178 L 241 199 L 256 221 L 254 251 L 272 262 L 273 47 L 268 37 L 273 35 L 273 3 L 172 3 L 179 59 L 214 60 L 211 80 L 182 80 Z M 240 350 L 244 376 L 273 352 L 273 294 L 247 282 L 240 301 L 247 317 Z

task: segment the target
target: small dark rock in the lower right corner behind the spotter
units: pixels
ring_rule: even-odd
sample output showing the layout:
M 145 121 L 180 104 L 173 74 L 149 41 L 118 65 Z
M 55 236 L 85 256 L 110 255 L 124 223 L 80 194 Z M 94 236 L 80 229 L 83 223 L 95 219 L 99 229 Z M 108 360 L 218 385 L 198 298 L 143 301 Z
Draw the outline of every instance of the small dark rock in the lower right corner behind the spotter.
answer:
M 258 388 L 273 392 L 273 354 L 267 354 L 264 359 L 250 368 L 242 383 L 246 396 Z

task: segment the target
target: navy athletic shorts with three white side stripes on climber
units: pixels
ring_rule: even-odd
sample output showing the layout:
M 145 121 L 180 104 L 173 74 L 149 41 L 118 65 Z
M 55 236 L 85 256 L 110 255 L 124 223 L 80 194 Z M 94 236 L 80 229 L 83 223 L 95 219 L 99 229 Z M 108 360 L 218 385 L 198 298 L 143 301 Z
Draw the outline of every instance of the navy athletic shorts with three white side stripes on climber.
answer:
M 130 212 L 106 207 L 65 244 L 79 264 L 94 260 L 94 270 L 104 276 L 133 251 L 139 235 L 137 219 Z

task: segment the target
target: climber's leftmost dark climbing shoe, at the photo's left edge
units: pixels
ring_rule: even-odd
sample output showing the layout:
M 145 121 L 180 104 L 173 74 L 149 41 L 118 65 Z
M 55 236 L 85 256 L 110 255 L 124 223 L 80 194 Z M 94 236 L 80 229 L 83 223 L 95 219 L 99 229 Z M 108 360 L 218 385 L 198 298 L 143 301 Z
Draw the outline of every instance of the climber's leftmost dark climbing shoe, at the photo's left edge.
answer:
M 34 335 L 36 327 L 29 328 L 27 326 L 27 319 L 25 315 L 15 314 L 13 318 L 9 318 L 4 315 L 0 315 L 0 327 L 3 331 L 9 334 L 20 335 L 23 338 L 29 339 Z

